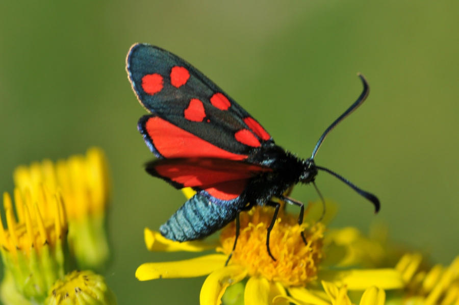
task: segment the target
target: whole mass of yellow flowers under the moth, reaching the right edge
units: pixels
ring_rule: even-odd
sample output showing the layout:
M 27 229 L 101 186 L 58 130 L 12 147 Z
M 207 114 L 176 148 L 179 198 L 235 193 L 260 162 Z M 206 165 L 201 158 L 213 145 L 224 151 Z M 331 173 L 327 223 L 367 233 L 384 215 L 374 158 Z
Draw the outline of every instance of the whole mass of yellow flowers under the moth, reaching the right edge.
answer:
M 184 193 L 193 195 L 188 189 Z M 146 281 L 208 275 L 201 288 L 201 305 L 459 304 L 459 258 L 447 268 L 422 269 L 427 265 L 420 264 L 421 256 L 403 255 L 402 248 L 387 240 L 385 230 L 375 230 L 370 237 L 353 227 L 327 230 L 327 220 L 313 220 L 320 209 L 320 204 L 310 202 L 302 225 L 297 224 L 297 215 L 279 212 L 270 238 L 275 261 L 266 250 L 272 218 L 267 208 L 241 214 L 234 251 L 234 223 L 223 228 L 219 241 L 173 242 L 146 228 L 145 243 L 151 251 L 214 249 L 217 253 L 145 263 L 136 277 Z M 333 215 L 336 209 L 331 205 L 327 211 Z

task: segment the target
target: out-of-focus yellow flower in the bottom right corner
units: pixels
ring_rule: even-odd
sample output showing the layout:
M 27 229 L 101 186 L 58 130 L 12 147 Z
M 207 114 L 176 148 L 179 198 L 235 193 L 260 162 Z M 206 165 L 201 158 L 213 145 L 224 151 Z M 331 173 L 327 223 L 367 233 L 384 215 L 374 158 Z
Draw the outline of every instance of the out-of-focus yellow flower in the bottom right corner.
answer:
M 403 276 L 405 290 L 393 303 L 459 304 L 459 256 L 448 267 L 437 264 L 428 269 L 419 253 L 407 253 L 396 269 Z

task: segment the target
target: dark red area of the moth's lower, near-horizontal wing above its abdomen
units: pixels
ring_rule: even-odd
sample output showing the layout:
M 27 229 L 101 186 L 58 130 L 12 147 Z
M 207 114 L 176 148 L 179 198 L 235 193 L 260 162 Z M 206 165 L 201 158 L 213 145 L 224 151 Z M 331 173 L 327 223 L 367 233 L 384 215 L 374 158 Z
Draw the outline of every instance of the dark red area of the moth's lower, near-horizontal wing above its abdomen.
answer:
M 158 161 L 153 167 L 161 177 L 183 187 L 202 189 L 224 182 L 247 180 L 271 171 L 268 167 L 225 159 L 170 159 Z

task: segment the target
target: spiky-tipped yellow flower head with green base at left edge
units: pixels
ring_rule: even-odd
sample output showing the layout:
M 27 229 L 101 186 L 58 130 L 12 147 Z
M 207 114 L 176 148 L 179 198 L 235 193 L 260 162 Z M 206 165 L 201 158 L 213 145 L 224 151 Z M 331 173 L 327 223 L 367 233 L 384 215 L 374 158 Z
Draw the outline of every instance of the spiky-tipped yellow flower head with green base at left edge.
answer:
M 4 304 L 18 303 L 18 299 L 39 303 L 66 271 L 65 209 L 60 194 L 45 187 L 38 189 L 36 202 L 28 189 L 21 193 L 16 188 L 14 199 L 17 218 L 10 195 L 4 193 L 8 228 L 0 218 L 0 252 L 5 266 L 0 298 Z

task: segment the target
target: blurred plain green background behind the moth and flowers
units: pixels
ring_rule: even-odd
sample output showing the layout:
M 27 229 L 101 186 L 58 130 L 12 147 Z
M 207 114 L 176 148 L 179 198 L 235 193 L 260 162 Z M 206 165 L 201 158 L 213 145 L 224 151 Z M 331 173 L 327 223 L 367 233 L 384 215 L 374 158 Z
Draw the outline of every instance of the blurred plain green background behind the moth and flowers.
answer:
M 145 114 L 126 78 L 135 42 L 183 57 L 235 98 L 277 144 L 309 157 L 321 133 L 371 85 L 316 162 L 377 194 L 382 209 L 325 173 L 336 226 L 386 222 L 393 239 L 449 263 L 459 254 L 459 3 L 457 1 L 0 2 L 0 188 L 19 164 L 102 147 L 109 158 L 113 261 L 120 304 L 198 303 L 203 278 L 138 282 L 157 229 L 184 198 L 148 176 L 137 132 Z M 302 201 L 317 199 L 310 186 Z

